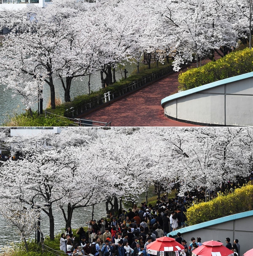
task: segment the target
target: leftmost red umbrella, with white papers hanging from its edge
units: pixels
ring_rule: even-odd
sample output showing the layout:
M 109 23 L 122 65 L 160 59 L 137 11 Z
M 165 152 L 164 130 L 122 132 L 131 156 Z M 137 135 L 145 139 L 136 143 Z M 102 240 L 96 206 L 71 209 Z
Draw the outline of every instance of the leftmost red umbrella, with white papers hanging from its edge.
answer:
M 165 252 L 175 252 L 184 250 L 182 244 L 177 243 L 172 237 L 160 237 L 157 238 L 156 241 L 147 245 L 147 251 L 155 250 L 155 251 L 165 251 Z M 152 253 L 151 253 L 152 254 Z

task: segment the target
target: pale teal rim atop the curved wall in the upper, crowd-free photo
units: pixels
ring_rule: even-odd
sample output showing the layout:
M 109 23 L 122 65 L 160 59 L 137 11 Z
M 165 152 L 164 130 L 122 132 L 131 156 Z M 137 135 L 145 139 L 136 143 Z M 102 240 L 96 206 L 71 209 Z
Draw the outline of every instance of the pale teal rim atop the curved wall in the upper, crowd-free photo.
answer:
M 218 80 L 218 81 L 212 82 L 212 83 L 207 83 L 206 85 L 201 85 L 201 86 L 198 86 L 198 87 L 195 87 L 195 88 L 183 91 L 183 92 L 178 92 L 176 94 L 173 94 L 173 95 L 167 96 L 166 98 L 163 98 L 161 100 L 161 106 L 164 108 L 164 105 L 167 102 L 172 101 L 173 99 L 178 99 L 178 98 L 185 97 L 187 95 L 190 95 L 190 94 L 193 94 L 196 92 L 214 88 L 219 85 L 224 85 L 226 83 L 232 83 L 232 82 L 236 82 L 238 80 L 243 80 L 243 79 L 247 79 L 247 78 L 251 78 L 251 77 L 253 77 L 253 72 L 245 73 L 245 74 L 238 75 L 238 76 L 233 76 L 231 78 L 225 78 L 225 79 Z

